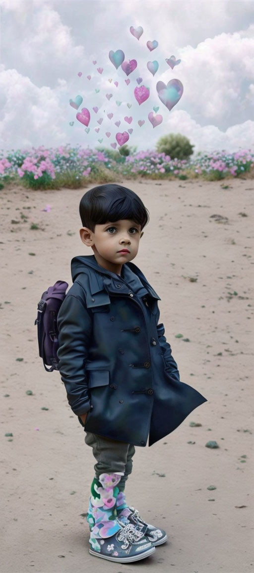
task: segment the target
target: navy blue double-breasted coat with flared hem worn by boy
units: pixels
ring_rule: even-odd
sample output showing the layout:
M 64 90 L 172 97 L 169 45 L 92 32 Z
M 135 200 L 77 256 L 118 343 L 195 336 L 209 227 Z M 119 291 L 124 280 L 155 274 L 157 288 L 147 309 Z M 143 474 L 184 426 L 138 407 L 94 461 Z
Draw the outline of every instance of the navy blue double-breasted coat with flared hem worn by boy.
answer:
M 85 431 L 149 446 L 207 399 L 180 382 L 160 297 L 132 262 L 121 276 L 94 255 L 72 259 L 73 285 L 58 313 L 59 371 Z M 79 418 L 80 419 L 80 418 Z M 80 420 L 81 422 L 81 420 Z

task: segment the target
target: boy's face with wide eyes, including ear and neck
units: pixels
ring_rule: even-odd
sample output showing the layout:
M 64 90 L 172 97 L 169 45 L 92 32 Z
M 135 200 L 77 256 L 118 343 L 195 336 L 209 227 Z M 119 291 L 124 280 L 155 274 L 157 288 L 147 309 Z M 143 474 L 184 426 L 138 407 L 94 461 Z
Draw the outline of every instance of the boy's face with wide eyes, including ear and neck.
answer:
M 125 262 L 136 257 L 143 234 L 141 225 L 130 219 L 96 225 L 94 233 L 88 227 L 80 229 L 81 241 L 92 247 L 98 264 L 117 274 Z M 121 249 L 128 249 L 129 253 L 120 253 Z

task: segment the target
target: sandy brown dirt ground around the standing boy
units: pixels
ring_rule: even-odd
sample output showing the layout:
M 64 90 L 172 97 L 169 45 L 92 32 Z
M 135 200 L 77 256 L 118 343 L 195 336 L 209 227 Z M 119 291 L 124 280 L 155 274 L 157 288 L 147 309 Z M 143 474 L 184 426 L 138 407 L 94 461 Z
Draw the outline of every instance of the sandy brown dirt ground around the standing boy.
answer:
M 160 321 L 182 382 L 208 399 L 134 455 L 127 501 L 169 539 L 129 565 L 89 554 L 82 513 L 95 461 L 59 372 L 47 373 L 38 356 L 42 292 L 59 279 L 71 285 L 71 258 L 93 254 L 80 240 L 78 214 L 90 187 L 3 189 L 1 571 L 247 573 L 254 569 L 254 180 L 121 184 L 150 213 L 133 262 L 161 297 Z M 209 440 L 219 448 L 206 447 Z

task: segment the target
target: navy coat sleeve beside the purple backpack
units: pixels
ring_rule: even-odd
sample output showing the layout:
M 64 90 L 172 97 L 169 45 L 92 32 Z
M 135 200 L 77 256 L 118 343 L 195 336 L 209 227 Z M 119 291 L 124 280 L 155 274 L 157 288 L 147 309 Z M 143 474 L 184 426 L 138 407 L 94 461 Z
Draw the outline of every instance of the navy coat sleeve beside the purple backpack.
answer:
M 90 409 L 85 363 L 88 356 L 92 320 L 76 296 L 66 296 L 57 317 L 59 348 L 58 370 L 65 384 L 67 398 L 74 414 Z

